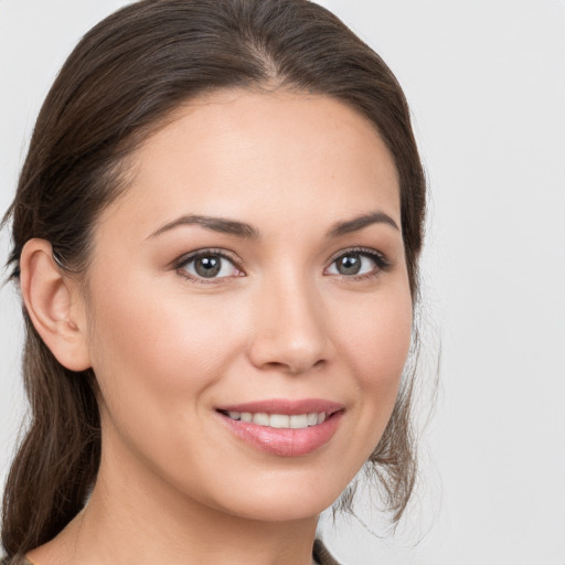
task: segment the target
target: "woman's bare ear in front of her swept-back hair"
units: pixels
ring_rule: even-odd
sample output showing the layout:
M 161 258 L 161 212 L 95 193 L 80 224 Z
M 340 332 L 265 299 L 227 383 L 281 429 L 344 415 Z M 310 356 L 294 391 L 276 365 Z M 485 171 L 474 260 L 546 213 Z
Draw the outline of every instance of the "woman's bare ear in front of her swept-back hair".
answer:
M 20 287 L 28 315 L 55 359 L 71 371 L 89 369 L 84 300 L 76 280 L 55 263 L 47 241 L 24 245 Z

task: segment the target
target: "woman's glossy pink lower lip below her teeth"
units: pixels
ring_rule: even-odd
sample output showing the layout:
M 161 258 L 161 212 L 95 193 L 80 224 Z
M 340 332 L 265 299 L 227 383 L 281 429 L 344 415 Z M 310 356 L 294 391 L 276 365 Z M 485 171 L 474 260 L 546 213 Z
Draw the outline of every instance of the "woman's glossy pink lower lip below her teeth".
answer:
M 259 426 L 218 414 L 238 438 L 253 447 L 281 457 L 300 457 L 316 451 L 332 438 L 343 412 L 332 414 L 322 424 L 300 429 Z

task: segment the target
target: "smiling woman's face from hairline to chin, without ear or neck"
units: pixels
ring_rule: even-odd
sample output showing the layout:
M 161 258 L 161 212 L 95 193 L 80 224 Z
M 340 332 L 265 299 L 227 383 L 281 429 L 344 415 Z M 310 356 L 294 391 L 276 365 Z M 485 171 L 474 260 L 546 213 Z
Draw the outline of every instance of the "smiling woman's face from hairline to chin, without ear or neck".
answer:
M 99 480 L 319 513 L 381 438 L 411 342 L 387 149 L 334 99 L 232 90 L 183 107 L 130 172 L 87 274 Z

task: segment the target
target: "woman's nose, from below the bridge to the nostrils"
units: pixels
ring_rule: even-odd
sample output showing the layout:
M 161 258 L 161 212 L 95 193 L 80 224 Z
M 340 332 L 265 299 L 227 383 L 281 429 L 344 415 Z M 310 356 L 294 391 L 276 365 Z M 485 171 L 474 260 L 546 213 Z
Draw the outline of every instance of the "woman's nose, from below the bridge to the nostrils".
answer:
M 249 358 L 255 366 L 300 374 L 328 363 L 332 345 L 313 285 L 288 277 L 266 282 L 254 310 Z

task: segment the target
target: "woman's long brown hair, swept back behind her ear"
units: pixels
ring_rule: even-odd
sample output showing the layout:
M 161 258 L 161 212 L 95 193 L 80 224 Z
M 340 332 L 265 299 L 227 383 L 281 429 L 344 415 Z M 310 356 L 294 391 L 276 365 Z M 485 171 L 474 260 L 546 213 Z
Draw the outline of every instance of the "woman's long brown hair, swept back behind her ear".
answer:
M 396 164 L 414 301 L 425 178 L 409 110 L 383 61 L 338 18 L 306 0 L 142 0 L 93 28 L 61 70 L 39 115 L 15 199 L 11 278 L 25 242 L 51 242 L 81 274 L 104 206 L 125 190 L 120 164 L 183 102 L 220 88 L 290 88 L 332 96 L 371 120 Z M 100 457 L 95 375 L 63 367 L 29 317 L 23 375 L 30 428 L 3 499 L 9 557 L 54 537 L 81 510 Z M 412 372 L 367 462 L 398 520 L 411 495 Z M 351 509 L 350 497 L 342 507 Z

